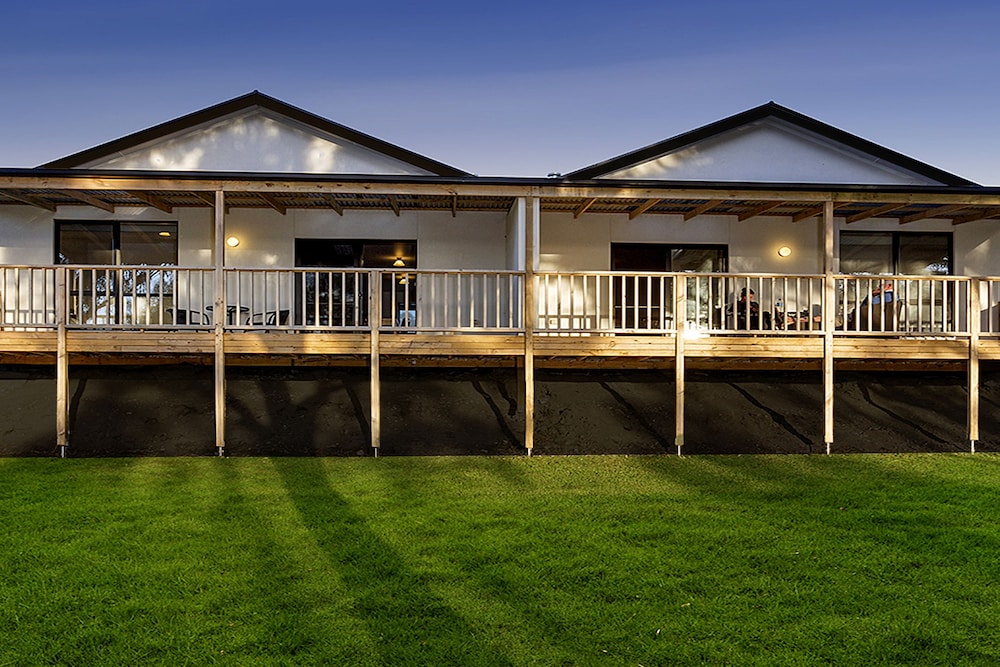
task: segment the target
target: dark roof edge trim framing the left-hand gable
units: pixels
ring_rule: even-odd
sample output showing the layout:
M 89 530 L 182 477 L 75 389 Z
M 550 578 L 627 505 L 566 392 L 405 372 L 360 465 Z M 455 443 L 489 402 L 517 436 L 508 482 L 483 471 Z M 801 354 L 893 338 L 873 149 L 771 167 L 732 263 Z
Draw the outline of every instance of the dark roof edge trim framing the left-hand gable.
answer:
M 344 139 L 363 148 L 398 160 L 416 169 L 429 172 L 434 176 L 462 177 L 472 174 L 446 165 L 437 160 L 432 160 L 423 155 L 419 155 L 405 148 L 390 144 L 371 135 L 364 134 L 351 129 L 345 125 L 335 123 L 331 120 L 317 116 L 298 107 L 282 102 L 279 99 L 265 95 L 259 91 L 253 91 L 246 95 L 233 98 L 226 102 L 195 111 L 194 113 L 175 118 L 174 120 L 161 123 L 154 127 L 140 130 L 120 139 L 115 139 L 107 143 L 89 148 L 73 155 L 53 160 L 39 167 L 39 169 L 75 169 L 87 166 L 95 161 L 104 158 L 112 158 L 128 151 L 136 150 L 158 140 L 165 140 L 186 130 L 203 126 L 213 121 L 224 119 L 228 116 L 240 112 L 249 111 L 254 108 L 264 109 L 281 116 L 290 118 L 297 123 L 305 125 L 307 128 L 323 134 Z

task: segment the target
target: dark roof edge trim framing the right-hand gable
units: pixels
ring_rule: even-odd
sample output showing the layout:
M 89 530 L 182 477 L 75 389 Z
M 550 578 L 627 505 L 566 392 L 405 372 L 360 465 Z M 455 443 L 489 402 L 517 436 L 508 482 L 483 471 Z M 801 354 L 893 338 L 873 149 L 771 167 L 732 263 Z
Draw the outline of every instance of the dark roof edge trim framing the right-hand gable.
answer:
M 676 153 L 699 142 L 715 139 L 727 132 L 759 123 L 761 121 L 776 119 L 777 121 L 789 124 L 808 133 L 818 135 L 830 142 L 841 144 L 854 151 L 867 154 L 876 158 L 883 164 L 891 165 L 897 169 L 918 174 L 926 179 L 948 186 L 977 186 L 970 180 L 956 176 L 937 167 L 933 167 L 925 162 L 915 160 L 911 157 L 897 153 L 896 151 L 875 144 L 867 139 L 845 132 L 805 114 L 793 111 L 787 107 L 768 102 L 742 113 L 724 118 L 720 121 L 710 123 L 703 127 L 679 134 L 670 139 L 651 144 L 644 148 L 619 155 L 618 157 L 605 160 L 597 164 L 577 169 L 564 176 L 565 180 L 591 180 L 596 178 L 607 178 L 615 172 L 639 166 L 643 163 L 656 160 L 665 155 Z M 613 176 L 612 176 L 613 177 Z M 752 182 L 752 178 L 742 179 Z

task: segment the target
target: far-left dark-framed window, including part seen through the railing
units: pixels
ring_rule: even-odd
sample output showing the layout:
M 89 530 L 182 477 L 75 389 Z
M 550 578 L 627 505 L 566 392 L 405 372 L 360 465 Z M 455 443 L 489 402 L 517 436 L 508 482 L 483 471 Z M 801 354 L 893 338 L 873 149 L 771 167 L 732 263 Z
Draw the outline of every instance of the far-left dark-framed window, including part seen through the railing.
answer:
M 176 266 L 177 223 L 56 221 L 55 261 L 122 267 L 70 271 L 71 323 L 159 322 L 173 308 L 176 272 L 124 267 Z

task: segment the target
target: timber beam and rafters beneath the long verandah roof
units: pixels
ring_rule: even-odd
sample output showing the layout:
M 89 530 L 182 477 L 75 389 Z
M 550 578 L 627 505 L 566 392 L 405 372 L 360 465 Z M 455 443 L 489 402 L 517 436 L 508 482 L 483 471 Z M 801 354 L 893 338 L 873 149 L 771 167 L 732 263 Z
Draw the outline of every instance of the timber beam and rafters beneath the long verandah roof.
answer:
M 18 170 L 28 171 L 28 170 Z M 544 212 L 676 215 L 691 220 L 711 212 L 748 220 L 759 215 L 786 217 L 794 222 L 817 217 L 825 201 L 832 201 L 837 217 L 848 224 L 869 218 L 895 218 L 903 224 L 925 218 L 949 219 L 954 224 L 996 219 L 1000 214 L 1000 189 L 917 189 L 879 191 L 849 188 L 844 191 L 777 189 L 760 187 L 675 187 L 613 184 L 553 184 L 518 179 L 482 179 L 458 182 L 324 181 L 304 178 L 193 178 L 186 175 L 48 175 L 0 173 L 0 207 L 30 205 L 55 211 L 58 206 L 85 204 L 104 211 L 119 207 L 153 207 L 166 213 L 178 208 L 214 205 L 214 192 L 226 193 L 228 208 L 387 210 L 396 216 L 406 210 L 465 211 L 510 210 L 517 197 L 538 197 Z

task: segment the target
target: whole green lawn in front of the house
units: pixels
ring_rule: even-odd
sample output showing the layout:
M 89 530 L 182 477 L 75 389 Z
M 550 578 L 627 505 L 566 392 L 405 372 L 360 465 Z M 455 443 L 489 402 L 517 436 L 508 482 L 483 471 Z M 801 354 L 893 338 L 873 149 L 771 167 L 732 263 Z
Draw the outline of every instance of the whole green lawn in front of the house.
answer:
M 993 455 L 0 460 L 0 665 L 998 664 Z

